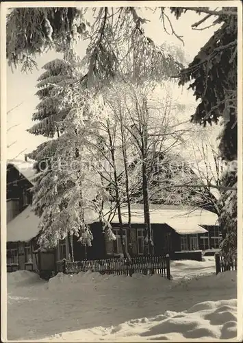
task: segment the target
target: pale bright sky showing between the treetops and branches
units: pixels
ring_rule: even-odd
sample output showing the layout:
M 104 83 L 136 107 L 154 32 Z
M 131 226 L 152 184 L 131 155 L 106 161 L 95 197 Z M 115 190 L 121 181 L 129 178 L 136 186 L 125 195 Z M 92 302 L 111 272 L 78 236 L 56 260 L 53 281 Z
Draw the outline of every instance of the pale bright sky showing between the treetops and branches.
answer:
M 162 45 L 166 41 L 183 47 L 178 38 L 164 32 L 163 24 L 159 21 L 158 12 L 155 14 L 150 10 L 143 10 L 143 12 L 146 14 L 146 18 L 150 20 L 150 22 L 145 25 L 147 36 L 151 37 L 155 40 L 155 43 L 159 45 Z M 179 21 L 177 21 L 174 16 L 170 15 L 170 20 L 175 32 L 177 32 L 179 36 L 183 36 L 183 41 L 185 43 L 183 49 L 185 49 L 191 60 L 217 29 L 217 27 L 211 27 L 203 31 L 193 30 L 191 25 L 196 21 L 199 21 L 202 18 L 202 15 L 199 17 L 199 15 L 194 12 L 189 11 L 181 16 Z M 207 25 L 209 24 L 206 23 L 205 26 Z M 170 32 L 169 25 L 167 25 L 167 29 Z M 87 43 L 79 43 L 77 48 L 79 54 L 84 56 L 86 47 Z M 20 69 L 14 70 L 14 73 L 12 73 L 10 67 L 7 69 L 7 110 L 22 103 L 21 106 L 12 110 L 7 118 L 7 126 L 10 128 L 8 131 L 8 145 L 16 141 L 16 143 L 8 148 L 8 158 L 15 158 L 18 156 L 18 158 L 22 159 L 24 158 L 24 154 L 31 152 L 38 144 L 46 140 L 44 137 L 35 137 L 33 134 L 26 132 L 26 130 L 34 124 L 34 122 L 31 121 L 31 116 L 35 112 L 35 107 L 38 104 L 38 97 L 34 94 L 37 91 L 37 78 L 43 73 L 43 69 L 41 68 L 45 63 L 55 58 L 62 58 L 62 54 L 57 54 L 55 51 L 49 51 L 47 54 L 36 58 L 38 70 L 33 71 L 33 73 L 28 73 L 27 75 L 21 73 Z M 189 93 L 186 90 L 182 93 L 185 103 L 193 102 L 192 94 L 188 94 Z M 191 114 L 192 113 L 188 113 L 188 119 Z M 12 126 L 16 127 L 11 128 Z

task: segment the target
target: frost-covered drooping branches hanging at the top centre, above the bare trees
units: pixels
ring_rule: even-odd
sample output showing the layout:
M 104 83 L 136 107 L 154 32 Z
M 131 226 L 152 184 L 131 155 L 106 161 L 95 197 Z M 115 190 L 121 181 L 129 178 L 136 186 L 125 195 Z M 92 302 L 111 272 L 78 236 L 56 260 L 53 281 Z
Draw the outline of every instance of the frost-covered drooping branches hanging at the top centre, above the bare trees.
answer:
M 161 82 L 182 65 L 144 34 L 134 8 L 100 8 L 88 46 L 88 84 L 114 80 L 121 74 L 131 82 Z

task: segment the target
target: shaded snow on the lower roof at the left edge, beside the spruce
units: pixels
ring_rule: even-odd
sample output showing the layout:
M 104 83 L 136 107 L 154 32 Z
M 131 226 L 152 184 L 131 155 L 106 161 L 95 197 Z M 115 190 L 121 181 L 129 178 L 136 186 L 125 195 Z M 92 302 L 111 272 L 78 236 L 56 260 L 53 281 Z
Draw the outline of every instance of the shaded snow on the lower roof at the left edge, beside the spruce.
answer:
M 7 224 L 7 241 L 30 241 L 39 233 L 40 218 L 28 206 Z

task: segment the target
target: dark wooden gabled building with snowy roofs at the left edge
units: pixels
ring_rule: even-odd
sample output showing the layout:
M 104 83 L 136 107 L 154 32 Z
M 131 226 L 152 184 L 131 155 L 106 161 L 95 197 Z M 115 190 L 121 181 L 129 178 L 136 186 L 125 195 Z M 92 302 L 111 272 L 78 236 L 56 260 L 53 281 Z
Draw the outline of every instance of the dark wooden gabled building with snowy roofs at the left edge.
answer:
M 38 251 L 40 222 L 31 211 L 33 161 L 7 161 L 7 271 L 54 270 L 55 251 Z

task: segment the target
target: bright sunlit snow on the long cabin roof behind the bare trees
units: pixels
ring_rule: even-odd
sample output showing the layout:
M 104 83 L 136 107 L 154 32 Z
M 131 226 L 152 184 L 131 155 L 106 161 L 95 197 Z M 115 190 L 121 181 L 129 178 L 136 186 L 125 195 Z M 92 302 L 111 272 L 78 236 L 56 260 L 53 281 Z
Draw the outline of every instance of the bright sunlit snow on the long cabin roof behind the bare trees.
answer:
M 192 207 L 151 205 L 150 208 L 151 224 L 168 224 L 180 235 L 186 235 L 190 233 L 205 233 L 207 230 L 202 228 L 201 225 L 216 225 L 218 220 L 218 216 L 215 213 L 203 209 L 195 209 Z M 127 224 L 127 207 L 123 207 L 121 211 L 123 223 Z M 108 219 L 108 215 L 105 215 L 105 218 Z M 112 222 L 119 222 L 117 213 L 114 215 Z M 143 223 L 143 205 L 133 204 L 131 206 L 131 224 Z

